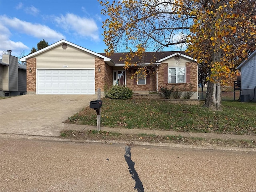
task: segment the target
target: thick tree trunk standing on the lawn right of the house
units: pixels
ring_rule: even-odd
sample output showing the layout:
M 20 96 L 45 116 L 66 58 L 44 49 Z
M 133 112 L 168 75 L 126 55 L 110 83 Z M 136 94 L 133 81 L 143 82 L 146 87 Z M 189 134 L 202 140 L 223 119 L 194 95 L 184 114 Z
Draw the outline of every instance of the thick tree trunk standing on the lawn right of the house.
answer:
M 204 106 L 214 110 L 222 109 L 220 83 L 208 82 Z

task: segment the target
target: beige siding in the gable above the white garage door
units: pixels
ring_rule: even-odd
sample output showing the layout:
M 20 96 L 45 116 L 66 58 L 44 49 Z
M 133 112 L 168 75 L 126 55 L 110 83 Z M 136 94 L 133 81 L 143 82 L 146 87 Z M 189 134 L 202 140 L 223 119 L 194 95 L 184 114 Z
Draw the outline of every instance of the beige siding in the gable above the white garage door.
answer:
M 95 56 L 68 45 L 58 45 L 35 56 L 37 69 L 94 69 Z

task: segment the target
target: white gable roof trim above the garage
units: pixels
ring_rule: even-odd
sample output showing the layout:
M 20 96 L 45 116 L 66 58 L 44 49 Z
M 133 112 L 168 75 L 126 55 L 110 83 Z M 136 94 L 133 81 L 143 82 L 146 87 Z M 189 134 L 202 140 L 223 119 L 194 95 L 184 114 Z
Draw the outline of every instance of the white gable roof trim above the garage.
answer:
M 60 44 L 64 44 L 64 43 L 65 43 L 65 44 L 68 44 L 68 45 L 71 45 L 71 46 L 73 46 L 73 47 L 76 47 L 76 48 L 78 48 L 78 49 L 80 49 L 80 50 L 83 50 L 83 51 L 85 51 L 85 52 L 88 52 L 88 53 L 90 53 L 90 54 L 93 54 L 93 55 L 95 55 L 95 56 L 97 56 L 97 57 L 103 58 L 104 61 L 107 62 L 109 65 L 114 65 L 114 63 L 112 62 L 112 59 L 111 59 L 111 58 L 108 58 L 108 57 L 106 57 L 106 56 L 103 56 L 103 55 L 98 54 L 98 53 L 96 53 L 96 52 L 93 52 L 93 51 L 91 51 L 91 50 L 88 50 L 88 49 L 86 49 L 86 48 L 83 48 L 83 47 L 81 47 L 81 46 L 78 46 L 78 45 L 76 45 L 76 44 L 74 44 L 74 43 L 68 42 L 68 41 L 66 41 L 66 40 L 64 40 L 64 39 L 62 39 L 62 40 L 60 40 L 60 41 L 58 41 L 58 42 L 56 42 L 56 43 L 54 43 L 54 44 L 51 44 L 51 45 L 49 45 L 49 46 L 47 46 L 47 47 L 45 47 L 45 48 L 43 48 L 43 49 L 41 49 L 41 50 L 38 50 L 38 51 L 36 51 L 36 52 L 34 52 L 34 53 L 32 53 L 32 54 L 29 54 L 29 55 L 27 55 L 27 56 L 25 56 L 25 57 L 20 58 L 20 61 L 26 61 L 28 58 L 32 58 L 32 57 L 34 57 L 34 56 L 36 56 L 36 55 L 38 55 L 38 54 L 41 54 L 41 53 L 43 53 L 43 52 L 46 52 L 46 51 L 48 51 L 48 50 L 50 50 L 50 49 L 52 49 L 52 48 L 54 48 L 54 47 L 56 47 L 56 46 L 58 46 L 58 45 L 60 45 Z

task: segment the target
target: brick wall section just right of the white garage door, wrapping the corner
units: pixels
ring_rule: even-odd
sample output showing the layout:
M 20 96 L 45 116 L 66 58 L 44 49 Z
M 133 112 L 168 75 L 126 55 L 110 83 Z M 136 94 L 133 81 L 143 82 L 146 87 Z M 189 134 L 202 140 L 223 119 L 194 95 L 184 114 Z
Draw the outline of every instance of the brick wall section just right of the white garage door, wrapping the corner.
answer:
M 100 68 L 100 72 L 99 69 Z M 95 91 L 100 88 L 104 91 L 104 86 L 113 84 L 113 67 L 104 62 L 103 58 L 95 58 Z

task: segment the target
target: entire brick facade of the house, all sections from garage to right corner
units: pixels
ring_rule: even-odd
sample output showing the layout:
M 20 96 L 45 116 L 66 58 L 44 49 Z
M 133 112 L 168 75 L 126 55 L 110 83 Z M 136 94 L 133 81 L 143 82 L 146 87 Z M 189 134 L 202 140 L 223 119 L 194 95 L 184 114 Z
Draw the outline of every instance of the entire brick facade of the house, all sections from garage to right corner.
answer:
M 178 88 L 182 91 L 197 92 L 197 63 L 188 62 L 186 67 L 190 67 L 190 82 L 179 84 L 166 84 L 164 83 L 164 68 L 168 67 L 168 63 L 162 63 L 158 68 L 158 91 L 161 86 L 166 86 L 168 89 Z M 30 72 L 30 68 L 32 72 Z M 100 68 L 100 72 L 98 69 Z M 131 73 L 129 71 L 131 70 Z M 132 89 L 134 92 L 150 92 L 156 91 L 156 74 L 150 74 L 150 82 L 146 82 L 146 85 L 138 85 L 131 79 L 134 72 L 133 68 L 126 70 L 126 86 Z M 147 79 L 148 80 L 148 79 Z M 95 91 L 98 88 L 104 91 L 104 86 L 112 86 L 113 84 L 113 67 L 108 66 L 104 62 L 103 58 L 95 58 Z M 29 58 L 27 60 L 27 92 L 36 93 L 36 58 Z

